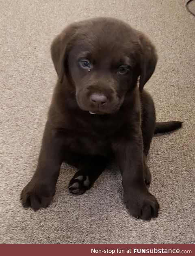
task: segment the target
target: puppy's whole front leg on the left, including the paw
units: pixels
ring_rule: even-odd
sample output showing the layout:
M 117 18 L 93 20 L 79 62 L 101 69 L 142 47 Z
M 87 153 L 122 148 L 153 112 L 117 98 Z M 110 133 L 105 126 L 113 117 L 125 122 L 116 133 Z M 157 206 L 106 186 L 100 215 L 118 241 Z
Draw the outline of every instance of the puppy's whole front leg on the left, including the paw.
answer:
M 50 204 L 62 161 L 62 138 L 46 124 L 37 169 L 21 193 L 24 207 L 38 210 Z

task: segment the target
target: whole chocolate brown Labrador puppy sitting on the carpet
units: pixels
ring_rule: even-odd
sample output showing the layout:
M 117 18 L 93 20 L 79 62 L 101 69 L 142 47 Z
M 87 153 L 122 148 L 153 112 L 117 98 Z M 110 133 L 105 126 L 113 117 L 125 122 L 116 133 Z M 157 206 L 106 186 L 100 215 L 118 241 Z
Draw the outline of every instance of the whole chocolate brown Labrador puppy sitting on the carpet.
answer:
M 158 202 L 146 186 L 150 142 L 155 132 L 181 122 L 156 123 L 152 98 L 143 91 L 157 62 L 154 46 L 125 22 L 94 18 L 65 28 L 51 54 L 58 81 L 37 169 L 21 194 L 23 206 L 50 204 L 63 161 L 78 168 L 69 191 L 82 194 L 115 157 L 130 214 L 157 217 Z

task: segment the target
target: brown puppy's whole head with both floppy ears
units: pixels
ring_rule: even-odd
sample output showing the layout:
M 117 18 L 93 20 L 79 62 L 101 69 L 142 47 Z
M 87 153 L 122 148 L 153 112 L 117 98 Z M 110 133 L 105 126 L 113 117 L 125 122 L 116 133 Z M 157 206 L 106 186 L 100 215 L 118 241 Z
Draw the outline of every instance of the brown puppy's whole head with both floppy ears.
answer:
M 97 114 L 119 110 L 139 76 L 142 91 L 157 62 L 149 39 L 113 18 L 69 25 L 54 39 L 51 53 L 60 82 L 67 76 L 74 86 L 78 106 Z

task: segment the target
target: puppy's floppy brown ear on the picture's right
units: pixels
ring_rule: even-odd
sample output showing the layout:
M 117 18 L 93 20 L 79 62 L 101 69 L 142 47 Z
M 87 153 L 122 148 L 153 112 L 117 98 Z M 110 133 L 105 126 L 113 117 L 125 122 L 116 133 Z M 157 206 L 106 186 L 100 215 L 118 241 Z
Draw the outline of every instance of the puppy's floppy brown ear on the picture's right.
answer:
M 139 91 L 142 92 L 145 83 L 154 73 L 158 56 L 155 47 L 145 35 L 141 34 L 139 40 L 141 45 Z

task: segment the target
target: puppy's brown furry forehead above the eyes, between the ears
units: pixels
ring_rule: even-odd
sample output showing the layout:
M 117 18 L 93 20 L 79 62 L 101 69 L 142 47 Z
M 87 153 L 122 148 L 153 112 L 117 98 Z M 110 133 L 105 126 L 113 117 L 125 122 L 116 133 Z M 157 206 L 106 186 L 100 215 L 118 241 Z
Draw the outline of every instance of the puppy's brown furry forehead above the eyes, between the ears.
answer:
M 138 41 L 130 31 L 86 30 L 72 42 L 72 55 L 90 61 L 132 65 Z

